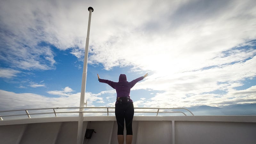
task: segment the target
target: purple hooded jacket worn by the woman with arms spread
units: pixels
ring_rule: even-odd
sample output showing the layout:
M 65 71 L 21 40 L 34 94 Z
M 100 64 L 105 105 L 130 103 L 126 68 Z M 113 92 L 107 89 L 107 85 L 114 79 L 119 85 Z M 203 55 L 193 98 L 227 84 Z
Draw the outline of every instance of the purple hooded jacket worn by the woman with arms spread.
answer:
M 131 82 L 128 82 L 126 79 L 126 75 L 121 74 L 119 76 L 119 81 L 118 82 L 112 82 L 106 79 L 99 79 L 101 83 L 106 83 L 110 85 L 112 88 L 116 89 L 116 98 L 120 97 L 129 97 L 130 98 L 130 91 L 131 88 L 139 81 L 143 80 L 143 76 L 136 78 L 135 80 L 132 80 Z M 133 102 L 130 99 L 130 102 Z M 117 103 L 117 101 L 116 101 Z

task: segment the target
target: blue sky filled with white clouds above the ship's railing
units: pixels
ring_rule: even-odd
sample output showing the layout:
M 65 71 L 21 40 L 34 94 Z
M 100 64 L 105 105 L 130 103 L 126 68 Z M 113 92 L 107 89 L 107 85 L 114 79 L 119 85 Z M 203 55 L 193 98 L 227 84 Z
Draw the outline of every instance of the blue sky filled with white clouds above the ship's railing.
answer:
M 256 103 L 254 0 L 1 0 L 0 111 L 114 107 L 102 79 L 132 81 L 134 107 Z

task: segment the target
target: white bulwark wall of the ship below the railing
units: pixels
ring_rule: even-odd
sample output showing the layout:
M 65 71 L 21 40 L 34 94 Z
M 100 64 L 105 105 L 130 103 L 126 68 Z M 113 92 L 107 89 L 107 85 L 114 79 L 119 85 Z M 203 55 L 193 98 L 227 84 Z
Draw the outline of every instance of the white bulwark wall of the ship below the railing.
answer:
M 76 144 L 77 121 L 78 117 L 0 121 L 0 143 Z M 115 116 L 85 116 L 83 126 L 84 134 L 86 128 L 97 132 L 86 144 L 117 144 Z M 255 144 L 255 132 L 256 116 L 134 116 L 132 143 Z

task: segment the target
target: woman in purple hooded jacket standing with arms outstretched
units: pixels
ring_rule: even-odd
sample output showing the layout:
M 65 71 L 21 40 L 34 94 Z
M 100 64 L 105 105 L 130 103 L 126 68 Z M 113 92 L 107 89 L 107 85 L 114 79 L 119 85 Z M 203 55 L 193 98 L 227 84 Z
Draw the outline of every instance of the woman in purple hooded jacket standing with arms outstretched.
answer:
M 112 88 L 116 89 L 116 104 L 115 104 L 115 115 L 117 122 L 117 140 L 119 144 L 124 143 L 124 119 L 126 128 L 126 144 L 132 143 L 132 119 L 134 115 L 133 101 L 130 99 L 131 88 L 143 78 L 148 76 L 148 73 L 141 76 L 131 82 L 127 81 L 126 75 L 121 74 L 118 82 L 112 82 L 106 79 L 100 79 L 99 74 L 98 80 L 101 83 L 106 83 Z

